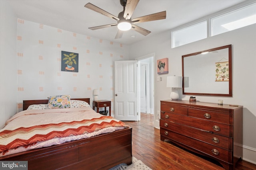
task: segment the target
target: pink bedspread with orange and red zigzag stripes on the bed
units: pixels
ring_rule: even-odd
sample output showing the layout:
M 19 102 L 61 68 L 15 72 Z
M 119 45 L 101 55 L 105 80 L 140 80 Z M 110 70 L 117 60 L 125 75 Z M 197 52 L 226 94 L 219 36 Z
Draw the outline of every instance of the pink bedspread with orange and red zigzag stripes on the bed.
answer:
M 25 110 L 0 130 L 0 156 L 128 128 L 122 121 L 90 107 Z

